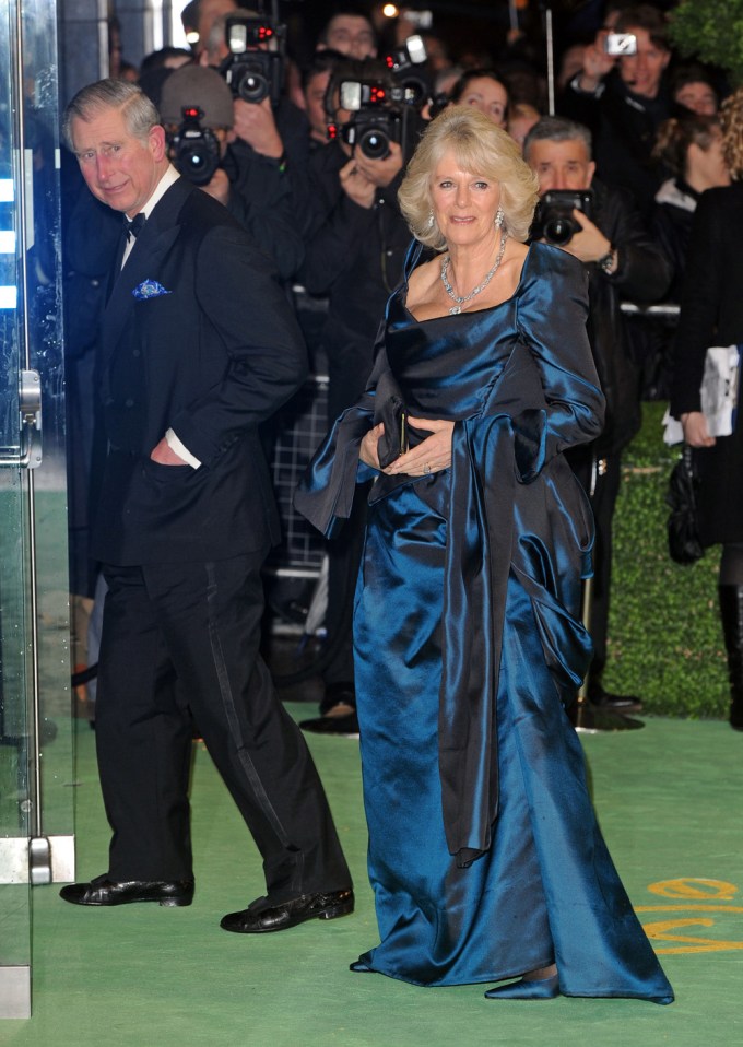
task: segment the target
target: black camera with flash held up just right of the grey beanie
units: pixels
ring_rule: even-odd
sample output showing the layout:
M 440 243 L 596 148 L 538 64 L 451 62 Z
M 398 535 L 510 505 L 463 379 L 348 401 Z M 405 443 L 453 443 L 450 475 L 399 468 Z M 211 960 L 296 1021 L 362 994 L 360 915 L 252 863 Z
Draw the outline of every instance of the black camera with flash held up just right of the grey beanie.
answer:
M 236 98 L 278 105 L 284 82 L 286 26 L 272 19 L 233 15 L 225 25 L 229 55 L 220 72 Z

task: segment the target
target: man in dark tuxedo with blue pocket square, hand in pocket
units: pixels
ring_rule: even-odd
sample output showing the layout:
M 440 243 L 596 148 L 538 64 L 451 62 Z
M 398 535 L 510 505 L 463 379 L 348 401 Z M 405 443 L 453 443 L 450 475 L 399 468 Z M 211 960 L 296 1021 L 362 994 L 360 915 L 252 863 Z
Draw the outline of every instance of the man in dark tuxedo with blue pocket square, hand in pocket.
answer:
M 93 537 L 108 585 L 96 741 L 114 835 L 108 871 L 61 895 L 191 903 L 192 716 L 267 881 L 222 927 L 344 916 L 351 877 L 325 792 L 258 652 L 260 568 L 278 539 L 258 426 L 305 377 L 296 321 L 269 259 L 170 166 L 138 87 L 84 87 L 64 133 L 126 233 L 102 325 L 108 455 Z

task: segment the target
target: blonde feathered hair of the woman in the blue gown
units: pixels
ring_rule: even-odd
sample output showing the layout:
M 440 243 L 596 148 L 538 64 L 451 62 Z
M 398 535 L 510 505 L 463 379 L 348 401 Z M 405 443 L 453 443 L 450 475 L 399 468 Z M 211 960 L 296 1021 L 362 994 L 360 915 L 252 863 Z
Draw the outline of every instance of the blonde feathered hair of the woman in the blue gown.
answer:
M 463 170 L 498 183 L 503 228 L 523 243 L 539 199 L 536 175 L 521 158 L 514 139 L 471 106 L 452 106 L 437 116 L 424 131 L 408 165 L 398 200 L 413 236 L 426 247 L 446 247 L 433 216 L 431 184 L 436 165 L 449 151 Z

